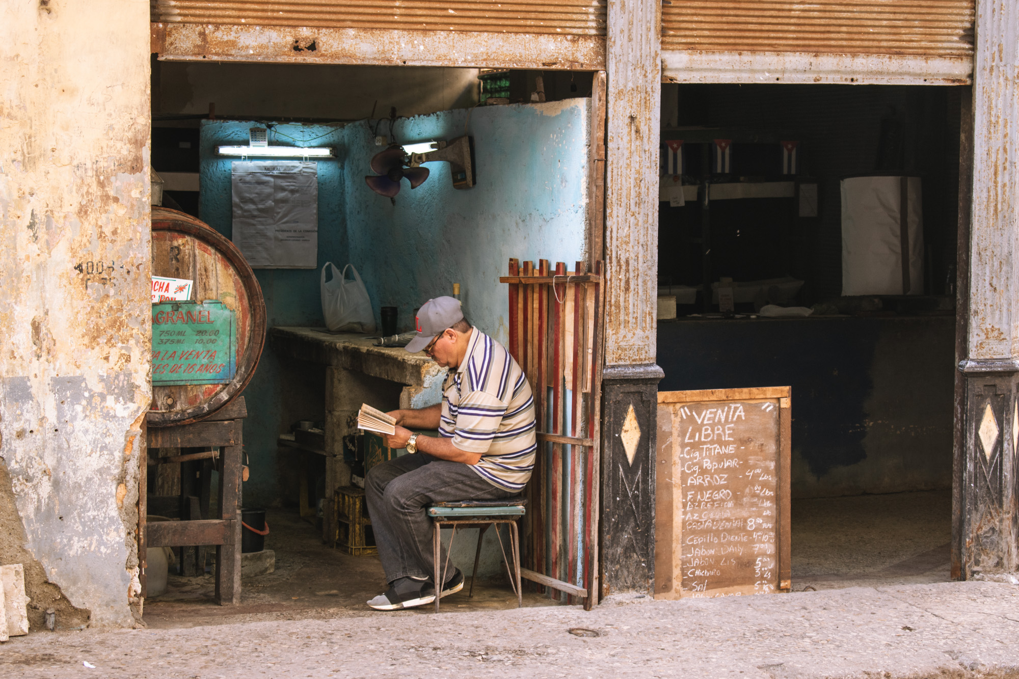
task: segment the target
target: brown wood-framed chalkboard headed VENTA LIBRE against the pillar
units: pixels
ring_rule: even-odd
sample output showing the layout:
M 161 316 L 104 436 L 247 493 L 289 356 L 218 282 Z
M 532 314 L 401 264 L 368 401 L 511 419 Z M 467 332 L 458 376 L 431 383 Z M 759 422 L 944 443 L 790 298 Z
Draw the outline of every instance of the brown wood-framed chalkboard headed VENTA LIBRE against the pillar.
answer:
M 790 591 L 792 388 L 658 394 L 656 598 Z

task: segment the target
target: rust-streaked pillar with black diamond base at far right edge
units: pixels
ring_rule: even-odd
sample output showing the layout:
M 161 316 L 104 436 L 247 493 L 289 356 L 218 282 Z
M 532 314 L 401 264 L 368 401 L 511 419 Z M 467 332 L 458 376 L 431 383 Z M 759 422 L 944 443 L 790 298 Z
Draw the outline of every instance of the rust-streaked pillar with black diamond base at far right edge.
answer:
M 953 535 L 954 574 L 964 579 L 1019 570 L 1019 4 L 977 0 L 976 37 Z

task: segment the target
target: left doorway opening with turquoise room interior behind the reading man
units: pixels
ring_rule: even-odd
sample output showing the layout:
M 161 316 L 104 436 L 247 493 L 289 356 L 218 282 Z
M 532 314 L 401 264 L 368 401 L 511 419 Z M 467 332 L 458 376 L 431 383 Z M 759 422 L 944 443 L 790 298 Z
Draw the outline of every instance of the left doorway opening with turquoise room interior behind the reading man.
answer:
M 507 259 L 540 256 L 572 264 L 585 258 L 588 229 L 578 206 L 588 180 L 591 89 L 590 72 L 153 59 L 152 159 L 164 207 L 197 217 L 238 245 L 233 182 L 247 168 L 237 165 L 265 159 L 257 153 L 224 156 L 220 147 L 248 147 L 261 134 L 270 147 L 328 148 L 331 156 L 285 159 L 315 164 L 317 231 L 314 243 L 303 246 L 310 260 L 253 263 L 268 331 L 243 395 L 250 473 L 243 497 L 246 508 L 265 510 L 269 532 L 263 549 L 243 559 L 242 605 L 213 602 L 215 550 L 174 547 L 166 590 L 146 598 L 148 624 L 336 615 L 364 609 L 386 588 L 370 523 L 356 531 L 341 503 L 354 498 L 363 510 L 357 489 L 367 471 L 404 451 L 384 449 L 351 417 L 361 402 L 383 411 L 437 403 L 441 378 L 420 360 L 404 360 L 398 347 L 376 348 L 382 307 L 395 309 L 397 333 L 413 331 L 422 303 L 455 290 L 475 326 L 506 343 L 507 295 L 499 276 L 506 274 Z M 470 189 L 455 187 L 449 163 L 426 163 L 429 178 L 413 190 L 403 182 L 394 197 L 373 193 L 365 181 L 373 174 L 373 156 L 391 144 L 465 135 L 473 139 L 476 163 Z M 555 191 L 548 190 L 553 185 Z M 253 252 L 238 247 L 246 256 Z M 357 268 L 376 329 L 355 337 L 323 327 L 327 262 L 337 270 L 347 263 Z M 158 267 L 154 261 L 154 271 Z M 190 453 L 150 452 L 148 514 L 208 518 L 216 500 L 214 465 L 165 460 Z M 458 532 L 452 550 L 452 564 L 468 578 L 476 541 L 476 529 Z M 444 608 L 516 607 L 501 561 L 490 529 L 473 597 L 465 587 L 444 598 Z M 524 602 L 553 603 L 526 587 Z

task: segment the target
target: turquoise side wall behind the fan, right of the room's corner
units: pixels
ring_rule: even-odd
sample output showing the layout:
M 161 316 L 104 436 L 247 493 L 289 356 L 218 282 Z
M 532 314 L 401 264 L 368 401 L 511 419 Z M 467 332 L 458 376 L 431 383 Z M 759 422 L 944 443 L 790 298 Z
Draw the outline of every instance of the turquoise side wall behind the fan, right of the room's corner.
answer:
M 590 99 L 484 106 L 400 120 L 401 144 L 474 137 L 477 185 L 457 191 L 448 163 L 426 163 L 431 175 L 396 197 L 365 184 L 374 145 L 367 122 L 345 128 L 344 175 L 351 261 L 376 315 L 399 309 L 411 329 L 413 309 L 462 284 L 468 317 L 506 342 L 506 275 L 511 257 L 573 263 L 583 258 L 587 208 Z M 468 115 L 470 120 L 468 121 Z

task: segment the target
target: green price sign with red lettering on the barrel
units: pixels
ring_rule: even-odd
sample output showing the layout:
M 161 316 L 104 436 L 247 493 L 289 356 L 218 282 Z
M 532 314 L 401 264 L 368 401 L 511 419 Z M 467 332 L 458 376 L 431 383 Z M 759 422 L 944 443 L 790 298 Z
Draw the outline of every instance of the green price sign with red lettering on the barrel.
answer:
M 236 323 L 221 302 L 152 305 L 152 383 L 224 384 L 237 371 Z

